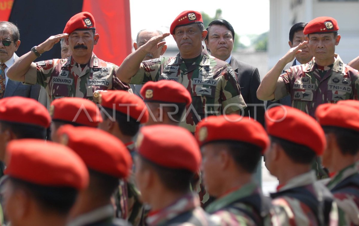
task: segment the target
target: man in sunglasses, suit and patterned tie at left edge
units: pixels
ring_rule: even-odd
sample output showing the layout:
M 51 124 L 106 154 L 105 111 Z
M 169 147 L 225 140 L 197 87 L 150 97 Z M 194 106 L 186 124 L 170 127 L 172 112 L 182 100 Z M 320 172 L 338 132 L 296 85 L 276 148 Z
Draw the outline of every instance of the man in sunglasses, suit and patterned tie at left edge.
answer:
M 0 22 L 0 98 L 22 96 L 38 100 L 39 85 L 23 85 L 8 79 L 6 72 L 19 57 L 15 54 L 20 45 L 20 33 L 16 25 Z

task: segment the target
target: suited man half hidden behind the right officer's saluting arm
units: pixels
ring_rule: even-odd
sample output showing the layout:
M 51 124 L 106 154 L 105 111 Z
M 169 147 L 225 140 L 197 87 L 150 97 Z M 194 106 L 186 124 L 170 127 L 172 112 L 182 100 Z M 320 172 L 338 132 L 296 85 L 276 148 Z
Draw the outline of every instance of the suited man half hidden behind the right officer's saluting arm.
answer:
M 288 41 L 290 48 L 296 47 L 300 43 L 302 43 L 303 41 L 306 40 L 306 37 L 305 37 L 306 35 L 303 34 L 303 30 L 307 26 L 307 24 L 308 23 L 299 22 L 299 23 L 294 24 L 292 26 L 292 28 L 290 28 L 289 41 Z M 312 58 L 313 58 L 313 56 L 309 52 L 307 45 L 304 46 L 302 48 L 302 52 L 298 53 L 292 62 L 285 65 L 285 67 L 283 69 L 283 73 L 286 70 L 288 70 L 290 67 L 308 63 L 309 61 L 312 60 Z M 292 106 L 292 100 L 290 99 L 290 95 L 286 95 L 285 97 L 283 97 L 280 100 L 276 100 L 276 101 L 268 100 L 267 107 L 270 106 L 271 104 L 282 104 L 282 105 Z

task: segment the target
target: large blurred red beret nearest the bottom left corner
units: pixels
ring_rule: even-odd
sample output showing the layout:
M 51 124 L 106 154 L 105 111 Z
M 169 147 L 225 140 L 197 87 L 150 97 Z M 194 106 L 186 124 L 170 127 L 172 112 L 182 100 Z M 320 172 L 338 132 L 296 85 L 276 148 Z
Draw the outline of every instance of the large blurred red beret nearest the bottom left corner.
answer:
M 6 146 L 5 173 L 43 186 L 88 186 L 89 175 L 82 159 L 70 148 L 51 141 L 19 139 Z

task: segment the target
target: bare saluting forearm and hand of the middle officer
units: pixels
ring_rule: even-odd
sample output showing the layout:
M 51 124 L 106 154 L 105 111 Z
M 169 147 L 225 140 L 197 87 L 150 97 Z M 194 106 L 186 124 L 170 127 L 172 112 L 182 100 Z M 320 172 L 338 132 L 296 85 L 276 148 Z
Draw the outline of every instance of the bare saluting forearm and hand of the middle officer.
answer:
M 154 36 L 136 51 L 128 55 L 125 60 L 123 60 L 121 66 L 117 69 L 116 77 L 122 82 L 129 83 L 131 81 L 131 77 L 134 76 L 140 69 L 141 62 L 146 57 L 146 54 L 162 48 L 162 46 L 166 44 L 166 42 L 162 41 L 162 39 L 168 35 L 169 33 L 164 33 L 162 35 Z

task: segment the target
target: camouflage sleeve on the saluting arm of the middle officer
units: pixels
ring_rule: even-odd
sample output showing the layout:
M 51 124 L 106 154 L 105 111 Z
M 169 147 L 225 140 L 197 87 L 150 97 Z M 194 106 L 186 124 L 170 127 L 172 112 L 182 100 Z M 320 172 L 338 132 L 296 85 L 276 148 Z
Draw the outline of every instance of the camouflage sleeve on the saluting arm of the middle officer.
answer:
M 131 78 L 131 84 L 145 84 L 148 81 L 157 81 L 159 76 L 158 71 L 164 58 L 156 58 L 143 61 L 140 69 Z

